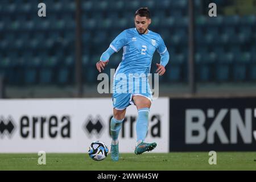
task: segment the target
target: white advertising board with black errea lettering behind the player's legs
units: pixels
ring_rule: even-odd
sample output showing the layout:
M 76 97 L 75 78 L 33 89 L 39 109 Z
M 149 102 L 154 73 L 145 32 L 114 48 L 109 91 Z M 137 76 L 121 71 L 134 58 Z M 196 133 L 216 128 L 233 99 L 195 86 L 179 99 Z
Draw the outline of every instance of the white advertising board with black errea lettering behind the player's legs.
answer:
M 156 142 L 152 152 L 169 150 L 169 99 L 152 102 L 145 142 Z M 0 152 L 87 152 L 94 140 L 109 149 L 111 98 L 1 100 Z M 119 151 L 134 152 L 137 109 L 131 105 L 119 133 Z

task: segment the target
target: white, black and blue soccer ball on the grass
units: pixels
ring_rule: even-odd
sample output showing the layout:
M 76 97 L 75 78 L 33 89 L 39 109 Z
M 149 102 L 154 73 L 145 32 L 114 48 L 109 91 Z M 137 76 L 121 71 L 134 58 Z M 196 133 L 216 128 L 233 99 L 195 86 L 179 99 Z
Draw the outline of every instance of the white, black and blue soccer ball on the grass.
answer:
M 104 142 L 94 141 L 89 146 L 88 154 L 93 160 L 103 160 L 108 155 L 109 149 Z

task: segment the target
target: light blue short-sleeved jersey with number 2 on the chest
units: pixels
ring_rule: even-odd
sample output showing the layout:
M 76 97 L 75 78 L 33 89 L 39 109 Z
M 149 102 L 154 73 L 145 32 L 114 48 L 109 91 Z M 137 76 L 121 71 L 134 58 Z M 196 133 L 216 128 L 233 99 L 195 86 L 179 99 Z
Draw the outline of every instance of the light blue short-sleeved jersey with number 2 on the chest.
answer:
M 161 55 L 167 51 L 166 45 L 159 34 L 148 30 L 147 34 L 139 34 L 136 28 L 124 30 L 113 40 L 110 47 L 118 52 L 123 48 L 122 61 L 118 73 L 150 73 L 151 61 L 155 50 Z M 165 65 L 164 65 L 165 66 Z

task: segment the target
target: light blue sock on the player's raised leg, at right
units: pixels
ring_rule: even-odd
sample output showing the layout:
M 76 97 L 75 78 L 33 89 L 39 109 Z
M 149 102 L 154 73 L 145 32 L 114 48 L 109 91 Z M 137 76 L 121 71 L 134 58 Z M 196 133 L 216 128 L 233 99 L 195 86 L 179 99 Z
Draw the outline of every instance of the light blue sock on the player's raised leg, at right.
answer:
M 147 107 L 138 110 L 138 118 L 136 123 L 137 144 L 141 143 L 146 138 L 149 110 L 150 109 Z

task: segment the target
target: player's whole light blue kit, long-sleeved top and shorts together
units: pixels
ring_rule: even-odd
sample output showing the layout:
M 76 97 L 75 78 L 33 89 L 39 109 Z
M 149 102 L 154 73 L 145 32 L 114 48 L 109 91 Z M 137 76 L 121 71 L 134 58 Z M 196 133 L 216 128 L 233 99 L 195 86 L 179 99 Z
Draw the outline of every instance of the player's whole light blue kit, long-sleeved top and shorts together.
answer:
M 127 29 L 117 36 L 110 47 L 101 56 L 106 61 L 115 52 L 123 48 L 122 61 L 115 71 L 113 79 L 113 107 L 123 110 L 134 104 L 133 96 L 143 96 L 152 101 L 148 84 L 151 61 L 155 51 L 161 56 L 160 64 L 168 63 L 169 53 L 159 34 L 148 30 L 139 34 L 136 28 Z

